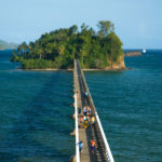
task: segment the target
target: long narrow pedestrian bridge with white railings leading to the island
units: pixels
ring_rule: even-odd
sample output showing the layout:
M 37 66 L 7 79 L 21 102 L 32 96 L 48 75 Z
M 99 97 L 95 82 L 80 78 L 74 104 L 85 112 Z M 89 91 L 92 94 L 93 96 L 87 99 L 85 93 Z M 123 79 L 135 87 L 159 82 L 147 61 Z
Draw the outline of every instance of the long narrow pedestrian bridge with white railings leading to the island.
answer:
M 76 120 L 76 161 L 77 162 L 114 162 L 108 140 L 104 133 L 97 110 L 94 106 L 89 86 L 79 60 L 73 60 L 73 92 L 75 92 L 75 120 Z M 86 92 L 86 95 L 85 95 Z M 82 126 L 80 118 L 83 117 L 83 107 L 90 106 L 91 117 L 95 118 L 94 125 L 89 122 L 87 127 Z M 91 140 L 96 141 L 94 154 L 91 151 Z M 83 149 L 79 151 L 79 141 L 83 141 Z

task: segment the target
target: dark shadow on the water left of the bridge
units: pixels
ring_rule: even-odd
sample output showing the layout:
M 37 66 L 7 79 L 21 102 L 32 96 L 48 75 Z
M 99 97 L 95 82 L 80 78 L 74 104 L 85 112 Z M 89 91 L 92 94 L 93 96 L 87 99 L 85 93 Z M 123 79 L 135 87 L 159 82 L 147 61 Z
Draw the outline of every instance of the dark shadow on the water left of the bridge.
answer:
M 19 121 L 14 123 L 5 141 L 1 144 L 4 147 L 2 151 L 0 150 L 1 162 L 67 161 L 69 158 L 67 148 L 70 148 L 69 139 L 72 140 L 72 137 L 69 137 L 69 125 L 72 121 L 69 119 L 69 110 L 66 110 L 66 113 L 60 107 L 68 109 L 70 95 L 67 92 L 70 92 L 71 87 L 66 86 L 62 91 L 58 87 L 62 85 L 60 77 L 59 72 L 57 77 L 51 75 L 41 91 L 26 106 Z M 67 144 L 60 139 L 62 137 L 68 139 Z

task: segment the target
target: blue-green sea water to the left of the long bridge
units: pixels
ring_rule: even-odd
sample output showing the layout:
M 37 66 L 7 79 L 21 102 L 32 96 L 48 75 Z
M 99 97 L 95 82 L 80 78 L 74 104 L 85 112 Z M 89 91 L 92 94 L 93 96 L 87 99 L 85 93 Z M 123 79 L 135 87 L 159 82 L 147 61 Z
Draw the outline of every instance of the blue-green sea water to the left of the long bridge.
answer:
M 0 52 L 0 162 L 63 162 L 75 152 L 72 73 L 15 70 Z

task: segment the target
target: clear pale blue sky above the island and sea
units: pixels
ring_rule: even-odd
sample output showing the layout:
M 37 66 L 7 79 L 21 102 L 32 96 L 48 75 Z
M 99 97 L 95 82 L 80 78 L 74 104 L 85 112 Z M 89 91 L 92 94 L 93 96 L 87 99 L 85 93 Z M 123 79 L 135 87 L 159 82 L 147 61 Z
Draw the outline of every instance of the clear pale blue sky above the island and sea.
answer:
M 111 21 L 124 49 L 162 49 L 162 0 L 0 0 L 0 39 L 35 41 L 82 23 Z

